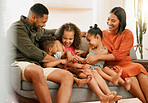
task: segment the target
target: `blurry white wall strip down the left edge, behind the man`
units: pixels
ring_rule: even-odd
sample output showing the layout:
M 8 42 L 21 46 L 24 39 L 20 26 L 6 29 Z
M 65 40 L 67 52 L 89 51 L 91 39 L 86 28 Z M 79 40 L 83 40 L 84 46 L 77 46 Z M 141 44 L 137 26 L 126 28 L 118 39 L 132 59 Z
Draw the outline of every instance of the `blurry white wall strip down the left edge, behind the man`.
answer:
M 11 87 L 9 58 L 6 58 L 6 32 L 20 15 L 27 15 L 32 4 L 33 0 L 0 0 L 0 103 L 18 103 Z

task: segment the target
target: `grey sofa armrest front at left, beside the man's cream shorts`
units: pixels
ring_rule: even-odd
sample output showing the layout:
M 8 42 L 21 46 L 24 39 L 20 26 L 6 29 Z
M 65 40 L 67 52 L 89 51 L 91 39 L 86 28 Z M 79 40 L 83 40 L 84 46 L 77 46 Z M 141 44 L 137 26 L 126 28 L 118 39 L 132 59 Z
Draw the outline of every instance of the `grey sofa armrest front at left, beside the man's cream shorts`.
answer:
M 18 66 L 11 66 L 11 85 L 15 92 L 21 90 L 21 70 Z

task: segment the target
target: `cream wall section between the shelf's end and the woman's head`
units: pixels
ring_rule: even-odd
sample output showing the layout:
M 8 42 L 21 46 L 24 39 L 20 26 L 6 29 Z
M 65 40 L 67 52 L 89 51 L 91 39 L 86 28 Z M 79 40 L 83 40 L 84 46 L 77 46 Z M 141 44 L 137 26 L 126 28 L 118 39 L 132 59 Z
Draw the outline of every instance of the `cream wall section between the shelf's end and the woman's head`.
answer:
M 124 0 L 94 0 L 94 22 L 104 30 L 110 10 L 116 6 L 124 6 Z

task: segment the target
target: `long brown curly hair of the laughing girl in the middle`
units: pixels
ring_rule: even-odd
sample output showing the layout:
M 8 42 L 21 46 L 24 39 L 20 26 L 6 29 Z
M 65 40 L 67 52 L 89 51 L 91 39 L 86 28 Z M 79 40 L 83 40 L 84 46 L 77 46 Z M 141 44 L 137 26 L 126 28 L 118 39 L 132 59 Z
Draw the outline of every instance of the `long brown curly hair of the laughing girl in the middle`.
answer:
M 72 46 L 75 49 L 80 49 L 81 45 L 81 31 L 80 29 L 73 23 L 65 23 L 63 24 L 57 32 L 57 39 L 62 43 L 62 37 L 64 34 L 64 31 L 74 31 L 74 41 L 72 43 Z

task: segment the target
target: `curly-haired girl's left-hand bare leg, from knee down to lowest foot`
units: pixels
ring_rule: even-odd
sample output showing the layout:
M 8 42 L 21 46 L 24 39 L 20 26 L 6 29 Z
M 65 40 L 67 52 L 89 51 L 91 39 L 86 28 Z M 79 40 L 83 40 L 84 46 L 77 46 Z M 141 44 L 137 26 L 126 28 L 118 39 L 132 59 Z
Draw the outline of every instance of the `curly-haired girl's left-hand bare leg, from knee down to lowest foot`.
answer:
M 100 99 L 101 103 L 108 103 L 111 99 L 114 98 L 113 94 L 110 95 L 105 95 L 101 89 L 99 88 L 92 72 L 90 69 L 86 69 L 84 71 L 85 74 L 91 74 L 92 75 L 92 79 L 90 80 L 90 82 L 88 82 L 88 86 L 89 88 L 97 95 L 97 97 Z

